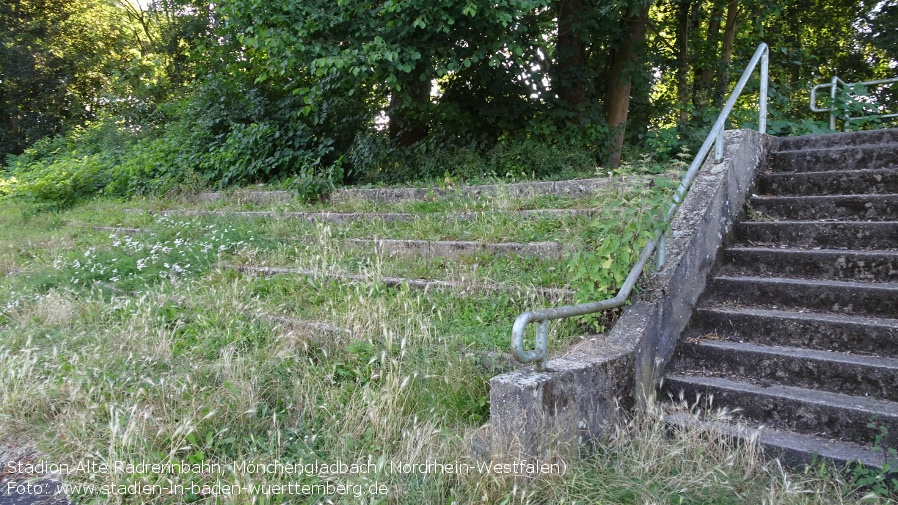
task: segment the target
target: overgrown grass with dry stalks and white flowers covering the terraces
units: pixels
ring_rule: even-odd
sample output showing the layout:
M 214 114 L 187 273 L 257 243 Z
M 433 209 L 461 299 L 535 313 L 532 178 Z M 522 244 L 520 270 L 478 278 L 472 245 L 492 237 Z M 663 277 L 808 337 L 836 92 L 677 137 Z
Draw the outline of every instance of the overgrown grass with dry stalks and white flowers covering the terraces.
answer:
M 545 240 L 548 230 L 564 239 L 578 230 L 573 221 L 484 218 L 452 228 L 419 220 L 336 231 L 122 211 L 129 206 L 99 201 L 52 214 L 27 206 L 0 213 L 0 271 L 6 274 L 0 279 L 0 442 L 33 444 L 46 461 L 69 465 L 69 484 L 105 486 L 98 494 L 82 489 L 74 496 L 81 503 L 864 499 L 839 470 L 796 472 L 765 459 L 753 443 L 734 446 L 699 430 L 671 433 L 659 406 L 615 427 L 586 457 L 559 453 L 563 471 L 489 472 L 470 449 L 488 421 L 489 378 L 505 366 L 501 358 L 487 358 L 507 349 L 513 318 L 543 302 L 516 294 L 463 296 L 261 277 L 223 267 L 271 259 L 268 254 L 278 258 L 282 246 L 271 237 L 293 233 L 311 237 L 309 246 L 280 258 L 301 258 L 309 267 L 467 275 L 484 258 L 365 263 L 339 239 L 408 230 L 420 238 L 480 240 Z M 114 224 L 144 233 L 92 229 Z M 533 282 L 557 281 L 545 278 L 544 264 L 493 261 L 478 267 L 490 278 L 510 276 L 503 272 L 513 266 L 533 270 Z M 279 316 L 348 331 L 315 334 Z M 550 348 L 581 333 L 575 322 L 554 324 Z M 206 472 L 76 469 L 86 462 L 219 466 Z M 328 475 L 242 466 L 274 462 L 357 466 Z M 428 462 L 466 471 L 422 471 Z M 176 492 L 147 494 L 135 485 Z M 224 485 L 244 486 L 244 492 L 228 496 Z M 247 492 L 251 486 L 255 491 Z

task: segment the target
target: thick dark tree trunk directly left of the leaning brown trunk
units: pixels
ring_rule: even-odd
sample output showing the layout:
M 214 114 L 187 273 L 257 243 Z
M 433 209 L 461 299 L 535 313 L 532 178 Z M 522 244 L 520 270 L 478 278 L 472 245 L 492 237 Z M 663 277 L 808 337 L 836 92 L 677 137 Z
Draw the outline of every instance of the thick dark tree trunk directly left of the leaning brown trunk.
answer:
M 553 87 L 558 98 L 572 113 L 570 121 L 581 122 L 578 106 L 586 102 L 589 69 L 586 43 L 577 24 L 585 6 L 584 0 L 558 1 L 558 41 L 555 47 Z

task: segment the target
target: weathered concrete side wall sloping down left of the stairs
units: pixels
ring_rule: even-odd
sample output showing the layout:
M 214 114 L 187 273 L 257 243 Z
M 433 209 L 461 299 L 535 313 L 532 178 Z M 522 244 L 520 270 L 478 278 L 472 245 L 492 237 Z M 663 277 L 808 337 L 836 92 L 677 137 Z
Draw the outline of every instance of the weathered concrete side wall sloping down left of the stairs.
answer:
M 615 422 L 618 404 L 632 407 L 654 391 L 770 143 L 727 132 L 725 159 L 705 164 L 672 223 L 663 270 L 647 276 L 607 336 L 551 359 L 547 372 L 492 379 L 494 451 L 539 456 L 555 444 L 588 443 Z

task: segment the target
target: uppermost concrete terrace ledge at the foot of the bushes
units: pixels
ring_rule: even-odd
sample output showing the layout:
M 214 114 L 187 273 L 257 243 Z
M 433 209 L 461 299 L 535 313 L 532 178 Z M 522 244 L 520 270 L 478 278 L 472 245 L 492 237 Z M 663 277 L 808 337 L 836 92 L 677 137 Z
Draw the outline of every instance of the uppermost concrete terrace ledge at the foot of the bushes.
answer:
M 340 189 L 330 193 L 330 202 L 351 200 L 367 200 L 375 202 L 402 202 L 434 200 L 442 197 L 528 197 L 539 195 L 555 195 L 564 198 L 590 196 L 598 191 L 634 184 L 648 184 L 649 177 L 597 177 L 593 179 L 577 179 L 568 181 L 521 182 L 514 184 L 486 184 L 481 186 L 430 187 L 430 188 L 375 188 L 375 189 Z M 634 182 L 636 181 L 636 182 Z M 201 193 L 200 201 L 217 202 L 228 200 L 237 203 L 254 203 L 259 205 L 271 203 L 289 203 L 296 199 L 292 191 L 258 191 L 241 189 L 236 191 L 216 191 Z

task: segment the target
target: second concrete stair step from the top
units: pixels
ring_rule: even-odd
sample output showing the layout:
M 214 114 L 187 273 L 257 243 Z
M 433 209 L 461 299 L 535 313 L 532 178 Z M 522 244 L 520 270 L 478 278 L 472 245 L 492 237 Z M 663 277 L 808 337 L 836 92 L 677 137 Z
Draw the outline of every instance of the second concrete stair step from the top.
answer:
M 898 143 L 774 151 L 768 166 L 773 172 L 893 168 L 898 166 Z

